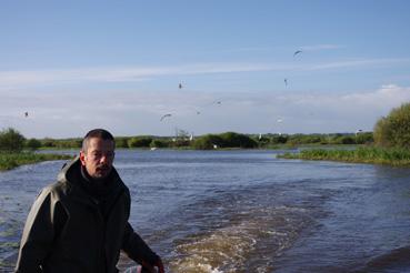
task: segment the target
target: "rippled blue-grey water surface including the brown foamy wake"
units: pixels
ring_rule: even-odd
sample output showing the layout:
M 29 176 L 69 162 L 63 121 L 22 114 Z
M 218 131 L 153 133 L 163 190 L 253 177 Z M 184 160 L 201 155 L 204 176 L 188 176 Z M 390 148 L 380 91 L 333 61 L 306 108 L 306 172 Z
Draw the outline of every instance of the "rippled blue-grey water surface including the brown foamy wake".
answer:
M 62 163 L 0 173 L 0 272 Z M 167 272 L 410 272 L 408 169 L 168 150 L 119 150 L 116 168 L 130 222 Z

